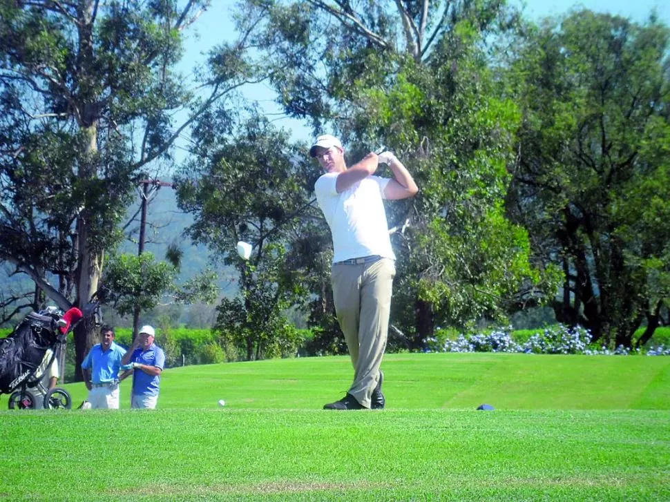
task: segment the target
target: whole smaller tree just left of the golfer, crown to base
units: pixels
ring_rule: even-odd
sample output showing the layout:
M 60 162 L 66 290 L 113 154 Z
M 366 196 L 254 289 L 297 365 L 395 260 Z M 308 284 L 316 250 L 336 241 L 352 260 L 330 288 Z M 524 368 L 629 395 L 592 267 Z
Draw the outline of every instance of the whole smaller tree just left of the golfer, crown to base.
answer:
M 215 329 L 247 360 L 295 354 L 300 337 L 284 312 L 305 301 L 306 289 L 298 250 L 285 243 L 312 210 L 306 166 L 267 119 L 252 114 L 234 141 L 213 137 L 204 127 L 213 119 L 199 122 L 199 157 L 180 171 L 178 197 L 195 218 L 190 235 L 238 271 L 240 294 L 221 300 Z M 249 262 L 235 253 L 240 240 L 254 246 Z

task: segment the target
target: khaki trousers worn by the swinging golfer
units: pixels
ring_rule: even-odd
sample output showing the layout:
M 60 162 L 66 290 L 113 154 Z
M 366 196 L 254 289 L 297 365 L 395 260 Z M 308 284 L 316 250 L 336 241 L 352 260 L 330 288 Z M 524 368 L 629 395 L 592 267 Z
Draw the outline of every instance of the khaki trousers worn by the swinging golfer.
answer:
M 395 275 L 394 261 L 388 258 L 365 264 L 334 264 L 332 268 L 337 320 L 354 365 L 349 394 L 368 408 L 386 349 Z

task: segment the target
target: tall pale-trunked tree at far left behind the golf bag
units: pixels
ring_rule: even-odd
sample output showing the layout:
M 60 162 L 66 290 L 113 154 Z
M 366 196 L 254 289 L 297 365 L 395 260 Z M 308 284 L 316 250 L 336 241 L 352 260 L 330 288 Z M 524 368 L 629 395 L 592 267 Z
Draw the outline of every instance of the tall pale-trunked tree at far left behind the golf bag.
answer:
M 137 182 L 247 78 L 241 66 L 214 65 L 200 82 L 207 91 L 192 93 L 175 72 L 184 30 L 208 5 L 0 3 L 0 260 L 63 309 L 98 289 Z M 211 59 L 244 49 L 220 46 Z M 79 363 L 95 334 L 81 325 L 75 342 Z

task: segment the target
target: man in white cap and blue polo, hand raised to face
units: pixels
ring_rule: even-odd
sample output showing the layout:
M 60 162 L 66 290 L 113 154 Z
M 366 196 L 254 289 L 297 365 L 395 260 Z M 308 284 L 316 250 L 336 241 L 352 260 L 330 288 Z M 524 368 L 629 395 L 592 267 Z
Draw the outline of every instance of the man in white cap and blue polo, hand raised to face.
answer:
M 133 347 L 122 363 L 133 366 L 133 396 L 131 408 L 155 408 L 160 391 L 160 374 L 165 366 L 165 354 L 153 340 L 155 330 L 142 326 Z

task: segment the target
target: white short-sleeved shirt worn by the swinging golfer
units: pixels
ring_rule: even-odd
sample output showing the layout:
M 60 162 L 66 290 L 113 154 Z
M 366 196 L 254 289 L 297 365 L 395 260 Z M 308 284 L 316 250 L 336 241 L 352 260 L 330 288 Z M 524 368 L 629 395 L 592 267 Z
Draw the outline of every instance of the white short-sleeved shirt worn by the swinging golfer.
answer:
M 333 238 L 333 262 L 380 255 L 395 260 L 383 199 L 388 178 L 368 176 L 337 193 L 339 173 L 325 173 L 314 184 L 316 202 Z

